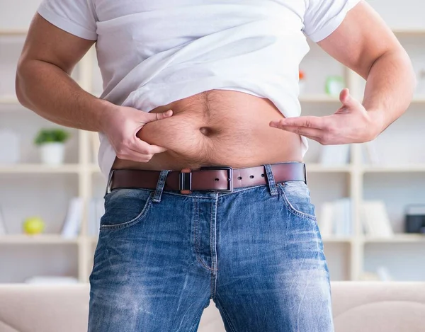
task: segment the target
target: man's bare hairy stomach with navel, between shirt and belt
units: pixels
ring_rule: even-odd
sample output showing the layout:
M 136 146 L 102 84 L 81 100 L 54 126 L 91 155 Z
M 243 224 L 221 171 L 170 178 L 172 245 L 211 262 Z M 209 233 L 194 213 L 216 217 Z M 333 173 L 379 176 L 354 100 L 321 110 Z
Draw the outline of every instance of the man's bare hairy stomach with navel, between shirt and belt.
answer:
M 297 134 L 268 125 L 284 118 L 266 98 L 239 91 L 211 90 L 154 108 L 173 110 L 170 118 L 148 122 L 137 137 L 167 151 L 147 163 L 115 159 L 114 169 L 179 171 L 200 166 L 242 168 L 283 161 L 302 161 Z

